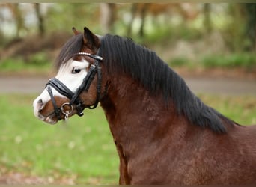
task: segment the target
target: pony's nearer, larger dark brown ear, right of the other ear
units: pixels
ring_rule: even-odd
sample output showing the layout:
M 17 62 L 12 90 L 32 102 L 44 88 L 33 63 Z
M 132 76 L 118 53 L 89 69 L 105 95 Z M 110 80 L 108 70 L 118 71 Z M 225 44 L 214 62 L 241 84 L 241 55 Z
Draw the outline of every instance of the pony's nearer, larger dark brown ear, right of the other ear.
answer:
M 93 34 L 87 27 L 84 28 L 83 35 L 84 45 L 88 46 L 90 49 L 99 48 L 100 47 L 100 39 L 95 34 Z

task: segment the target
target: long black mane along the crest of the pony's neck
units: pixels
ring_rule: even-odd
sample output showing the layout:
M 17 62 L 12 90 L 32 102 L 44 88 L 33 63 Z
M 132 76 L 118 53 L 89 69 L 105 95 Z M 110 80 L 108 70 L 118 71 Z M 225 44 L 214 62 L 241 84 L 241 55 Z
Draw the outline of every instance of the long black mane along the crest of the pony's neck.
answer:
M 155 52 L 134 43 L 131 39 L 106 34 L 101 40 L 100 55 L 108 73 L 129 73 L 153 94 L 162 92 L 165 102 L 174 101 L 177 112 L 191 123 L 210 127 L 214 132 L 226 132 L 223 122 L 232 120 L 219 114 L 195 96 L 184 80 Z

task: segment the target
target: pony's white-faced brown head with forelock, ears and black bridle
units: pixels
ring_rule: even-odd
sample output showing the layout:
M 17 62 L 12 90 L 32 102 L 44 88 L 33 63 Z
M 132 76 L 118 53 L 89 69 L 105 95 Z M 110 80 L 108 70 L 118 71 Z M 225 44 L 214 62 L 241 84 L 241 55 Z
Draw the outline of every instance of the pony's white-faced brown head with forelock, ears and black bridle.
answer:
M 74 36 L 64 44 L 58 56 L 58 73 L 33 102 L 34 115 L 55 124 L 85 108 L 95 108 L 100 99 L 100 37 L 88 28 L 84 33 L 73 28 Z

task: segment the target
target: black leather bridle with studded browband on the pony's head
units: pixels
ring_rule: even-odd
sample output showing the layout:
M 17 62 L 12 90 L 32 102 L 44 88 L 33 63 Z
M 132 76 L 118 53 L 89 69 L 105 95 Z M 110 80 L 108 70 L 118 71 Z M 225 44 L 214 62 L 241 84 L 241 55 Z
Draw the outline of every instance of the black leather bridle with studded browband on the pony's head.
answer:
M 98 50 L 98 52 L 99 52 L 99 50 Z M 47 91 L 52 100 L 52 105 L 54 108 L 55 116 L 58 118 L 58 120 L 61 120 L 61 113 L 64 114 L 64 118 L 67 119 L 67 117 L 73 111 L 73 105 L 75 105 L 76 114 L 78 114 L 79 116 L 82 116 L 84 114 L 83 111 L 85 108 L 94 109 L 97 107 L 98 102 L 100 101 L 100 90 L 101 90 L 101 79 L 102 79 L 100 61 L 103 61 L 103 58 L 100 57 L 99 55 L 92 55 L 87 52 L 78 52 L 78 53 L 72 55 L 70 58 L 73 58 L 73 56 L 76 56 L 76 55 L 85 55 L 90 58 L 93 58 L 94 64 L 91 64 L 91 67 L 88 70 L 87 75 L 83 79 L 82 84 L 79 86 L 79 88 L 76 89 L 75 93 L 73 93 L 73 91 L 70 91 L 70 89 L 67 88 L 67 86 L 64 85 L 57 78 L 49 79 L 49 82 L 47 82 L 47 84 L 46 84 Z M 81 99 L 79 99 L 79 95 L 82 93 L 82 91 L 89 90 L 91 82 L 93 81 L 96 73 L 97 73 L 96 101 L 94 102 L 94 105 L 84 105 L 82 103 Z M 52 94 L 51 87 L 55 88 L 55 90 L 58 91 L 58 93 L 61 93 L 61 95 L 66 96 L 68 99 L 70 99 L 70 102 L 65 102 L 64 104 L 61 105 L 61 108 L 58 108 L 55 98 Z

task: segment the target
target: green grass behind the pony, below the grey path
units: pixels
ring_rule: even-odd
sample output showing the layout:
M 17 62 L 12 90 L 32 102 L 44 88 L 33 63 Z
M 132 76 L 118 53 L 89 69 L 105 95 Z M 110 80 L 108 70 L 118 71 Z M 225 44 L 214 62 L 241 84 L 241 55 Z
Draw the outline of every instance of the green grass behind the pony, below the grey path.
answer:
M 256 96 L 199 94 L 207 105 L 241 124 L 256 123 Z M 72 177 L 79 184 L 118 183 L 118 154 L 103 110 L 85 111 L 55 126 L 37 120 L 35 95 L 0 95 L 0 175 Z

